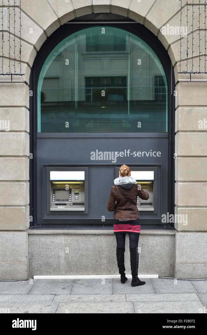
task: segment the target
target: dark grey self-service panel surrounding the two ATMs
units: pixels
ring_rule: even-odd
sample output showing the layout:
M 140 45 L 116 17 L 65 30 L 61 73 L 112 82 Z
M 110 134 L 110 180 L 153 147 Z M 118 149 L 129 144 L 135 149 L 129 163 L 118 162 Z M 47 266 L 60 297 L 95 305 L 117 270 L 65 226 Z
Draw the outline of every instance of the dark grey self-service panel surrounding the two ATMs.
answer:
M 130 152 L 127 154 L 127 150 Z M 95 154 L 95 160 L 91 159 L 91 152 L 123 152 L 123 157 L 116 159 L 101 160 L 102 155 Z M 126 155 L 125 155 L 126 150 Z M 141 152 L 141 157 L 134 156 L 133 152 Z M 147 152 L 143 153 L 142 151 Z M 152 156 L 152 152 L 161 152 L 159 156 Z M 115 167 L 127 164 L 130 167 L 159 166 L 158 169 L 158 193 L 161 196 L 158 200 L 158 213 L 141 213 L 140 218 L 146 219 L 147 223 L 158 221 L 161 213 L 167 212 L 168 205 L 168 138 L 37 138 L 37 224 L 49 222 L 70 223 L 73 218 L 83 218 L 86 223 L 90 219 L 97 219 L 97 223 L 102 223 L 101 217 L 112 219 L 114 212 L 108 212 L 106 204 L 113 181 L 116 178 Z M 150 156 L 151 154 L 151 156 Z M 155 153 L 154 153 L 155 155 Z M 113 156 L 113 154 L 112 154 Z M 97 159 L 96 159 L 97 158 Z M 105 155 L 107 158 L 107 155 Z M 110 158 L 110 156 L 108 156 Z M 111 157 L 112 158 L 112 157 Z M 113 162 L 114 161 L 114 162 Z M 51 164 L 60 167 L 66 164 L 70 167 L 88 167 L 88 214 L 86 213 L 51 213 L 44 214 L 43 219 L 43 199 L 46 203 L 46 194 L 43 191 L 43 164 Z M 63 165 L 64 167 L 64 165 Z M 46 180 L 46 172 L 44 175 Z M 159 186 L 160 185 L 160 186 Z M 44 198 L 45 197 L 45 198 Z M 160 208 L 160 210 L 159 210 Z M 46 213 L 46 211 L 44 211 Z M 161 220 L 160 220 L 161 222 Z M 50 220 L 51 223 L 51 220 Z

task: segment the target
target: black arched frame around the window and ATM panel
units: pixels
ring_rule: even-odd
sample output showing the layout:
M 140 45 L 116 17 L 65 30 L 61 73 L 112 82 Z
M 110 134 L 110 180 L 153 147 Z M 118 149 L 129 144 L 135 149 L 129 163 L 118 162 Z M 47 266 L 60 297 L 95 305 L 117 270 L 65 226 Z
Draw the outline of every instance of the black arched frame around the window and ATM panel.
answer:
M 80 19 L 80 18 L 79 18 Z M 171 214 L 174 214 L 175 210 L 175 164 L 174 164 L 174 152 L 175 152 L 175 75 L 174 68 L 169 57 L 168 51 L 165 49 L 161 41 L 155 36 L 150 30 L 148 30 L 144 25 L 133 21 L 128 20 L 120 23 L 102 21 L 103 26 L 114 26 L 117 28 L 125 29 L 128 32 L 131 32 L 134 35 L 137 35 L 144 42 L 146 42 L 151 49 L 156 53 L 160 59 L 168 84 L 168 210 Z M 30 114 L 30 152 L 33 153 L 33 159 L 30 159 L 29 164 L 29 182 L 30 182 L 30 195 L 29 195 L 29 206 L 30 206 L 30 229 L 113 229 L 113 224 L 104 225 L 104 224 L 51 224 L 51 225 L 39 225 L 36 222 L 36 137 L 37 137 L 37 83 L 38 76 L 41 70 L 41 67 L 47 58 L 48 54 L 53 50 L 53 48 L 60 43 L 68 35 L 73 34 L 76 31 L 82 30 L 83 28 L 100 26 L 100 22 L 81 22 L 81 21 L 70 21 L 60 26 L 57 30 L 51 34 L 46 41 L 41 46 L 40 50 L 37 52 L 37 55 L 34 59 L 29 79 L 29 89 L 32 91 L 32 95 L 29 97 L 29 114 Z M 47 133 L 50 136 L 50 133 Z M 92 133 L 93 134 L 93 133 Z M 105 133 L 105 137 L 113 137 L 116 133 Z M 146 137 L 150 133 L 145 133 Z M 167 133 L 166 133 L 167 134 Z M 82 134 L 84 137 L 84 134 Z M 164 133 L 153 133 L 152 137 L 163 137 Z M 73 136 L 73 134 L 71 135 Z M 98 133 L 93 134 L 94 137 L 99 137 Z M 137 136 L 143 137 L 144 133 L 138 133 Z M 127 133 L 123 136 L 127 137 Z M 133 136 L 134 137 L 134 136 Z M 151 137 L 151 136 L 150 136 Z M 144 225 L 141 229 L 174 229 L 174 223 L 166 223 L 165 225 Z

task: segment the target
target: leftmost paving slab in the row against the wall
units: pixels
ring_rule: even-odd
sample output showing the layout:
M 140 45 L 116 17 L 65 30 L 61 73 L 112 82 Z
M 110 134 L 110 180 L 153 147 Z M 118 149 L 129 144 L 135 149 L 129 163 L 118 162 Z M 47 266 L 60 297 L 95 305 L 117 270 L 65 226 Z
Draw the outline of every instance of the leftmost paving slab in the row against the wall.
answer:
M 23 280 L 23 281 L 1 281 L 1 294 L 28 294 L 32 289 L 37 279 Z

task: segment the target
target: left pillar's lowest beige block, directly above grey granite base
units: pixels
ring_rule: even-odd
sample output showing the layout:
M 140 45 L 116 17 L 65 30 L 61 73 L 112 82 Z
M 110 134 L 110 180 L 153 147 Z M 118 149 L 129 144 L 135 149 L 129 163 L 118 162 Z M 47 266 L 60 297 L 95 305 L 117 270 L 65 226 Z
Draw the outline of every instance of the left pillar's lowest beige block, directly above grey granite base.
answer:
M 29 228 L 29 205 L 0 207 L 0 230 L 25 230 Z

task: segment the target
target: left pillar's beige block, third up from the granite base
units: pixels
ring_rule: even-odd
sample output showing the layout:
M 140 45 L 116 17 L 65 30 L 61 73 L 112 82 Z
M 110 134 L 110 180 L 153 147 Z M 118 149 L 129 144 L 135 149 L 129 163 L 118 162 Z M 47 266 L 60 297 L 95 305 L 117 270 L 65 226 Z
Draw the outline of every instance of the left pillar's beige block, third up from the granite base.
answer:
M 29 180 L 29 158 L 0 157 L 0 180 Z

